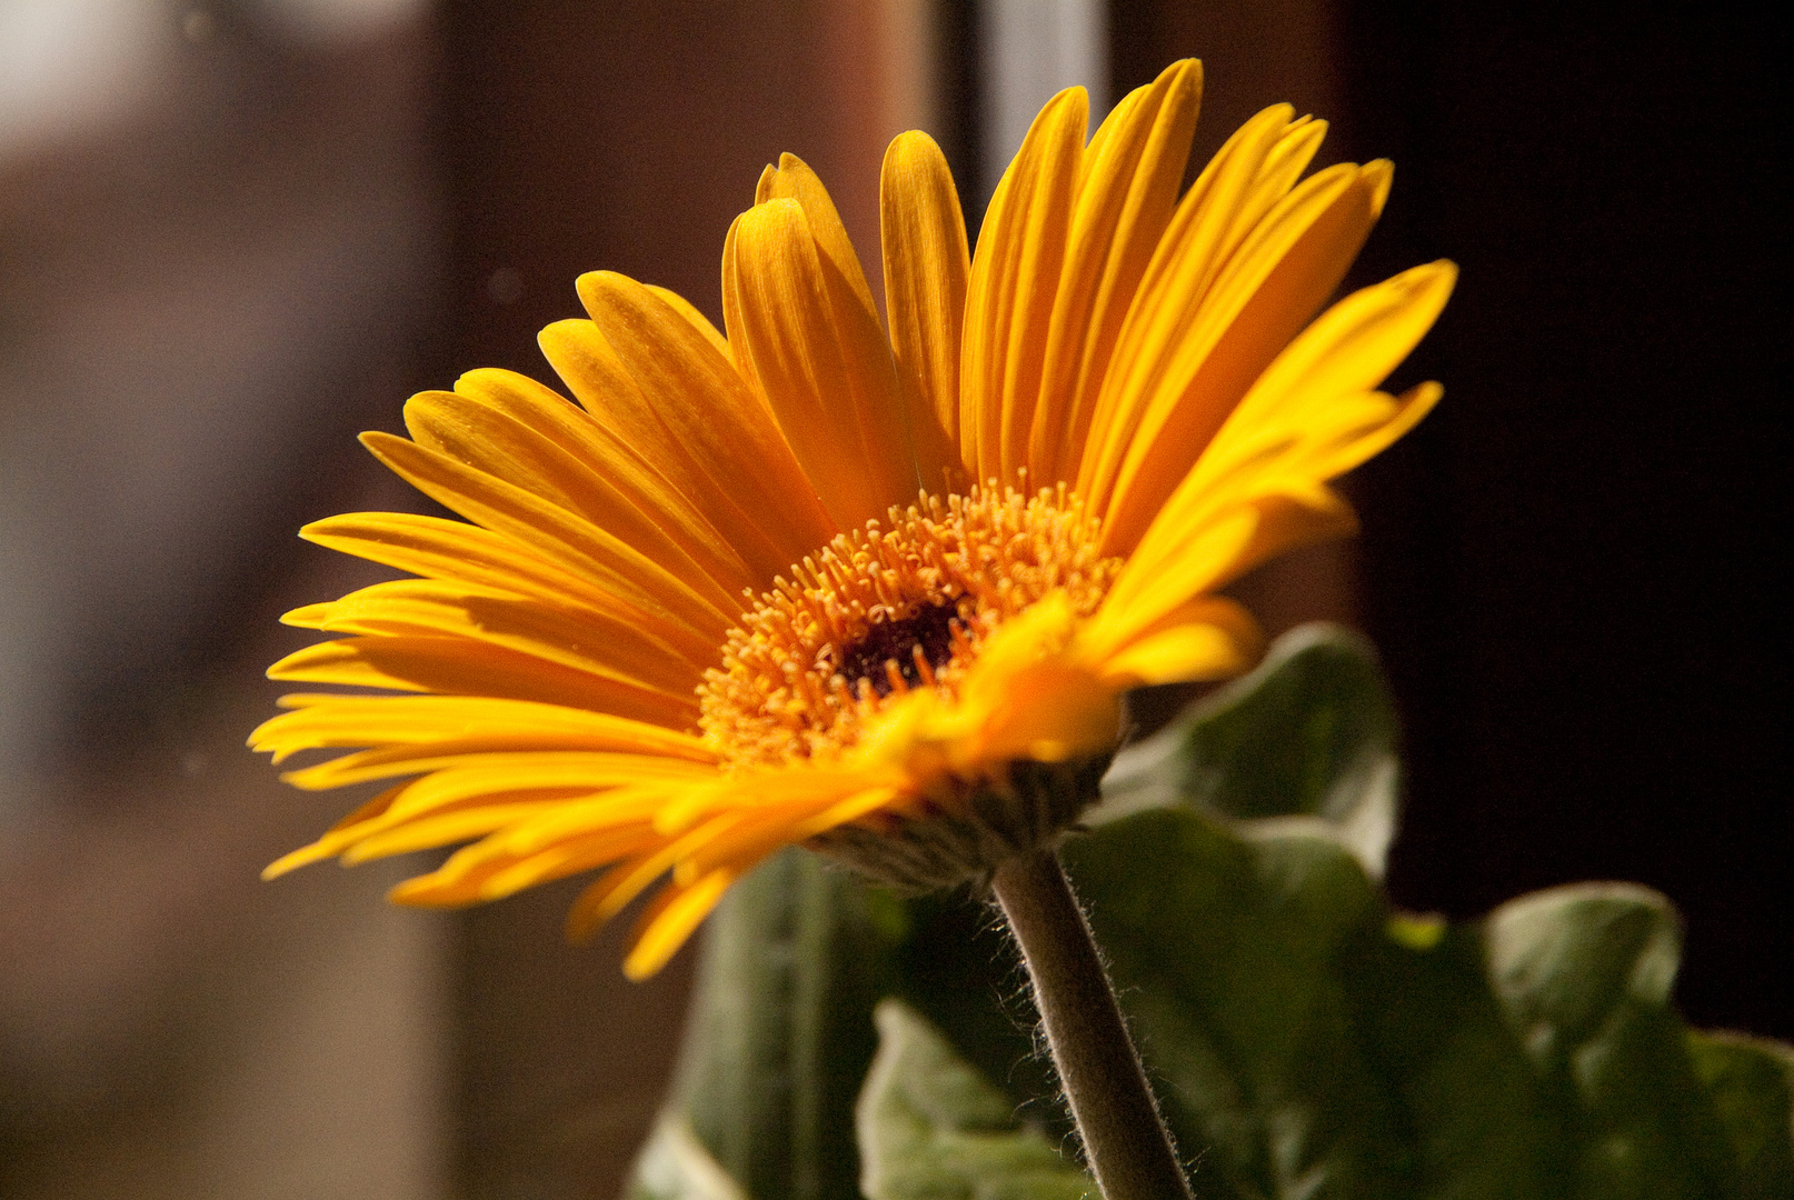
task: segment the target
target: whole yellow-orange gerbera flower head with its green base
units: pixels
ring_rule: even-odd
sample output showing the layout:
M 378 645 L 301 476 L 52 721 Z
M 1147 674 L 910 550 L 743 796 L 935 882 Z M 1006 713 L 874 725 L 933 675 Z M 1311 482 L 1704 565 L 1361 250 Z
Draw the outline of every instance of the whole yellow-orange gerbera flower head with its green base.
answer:
M 920 883 L 1049 843 L 1119 737 L 1118 698 L 1254 660 L 1215 592 L 1353 529 L 1326 481 L 1439 396 L 1376 391 L 1437 317 L 1450 264 L 1310 317 L 1390 167 L 1302 179 L 1324 124 L 1265 109 L 1179 197 L 1200 65 L 1085 143 L 1057 95 L 967 255 L 953 179 L 884 158 L 886 326 L 820 179 L 786 156 L 723 246 L 719 334 L 594 273 L 542 332 L 578 405 L 506 371 L 362 441 L 468 522 L 334 517 L 312 542 L 407 570 L 287 615 L 343 635 L 278 680 L 251 737 L 353 753 L 300 787 L 400 780 L 289 854 L 470 841 L 395 891 L 466 904 L 606 868 L 588 933 L 662 883 L 631 976 L 791 843 Z M 1306 326 L 1306 328 L 1304 328 Z

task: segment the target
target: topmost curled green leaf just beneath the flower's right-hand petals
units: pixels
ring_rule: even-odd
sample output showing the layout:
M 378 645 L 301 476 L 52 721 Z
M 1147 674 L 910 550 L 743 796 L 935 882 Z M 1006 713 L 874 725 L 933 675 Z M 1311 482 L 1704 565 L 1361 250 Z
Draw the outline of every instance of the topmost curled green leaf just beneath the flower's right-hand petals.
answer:
M 1319 832 L 1381 877 L 1396 832 L 1399 725 L 1371 644 L 1310 624 L 1265 662 L 1116 755 L 1094 822 L 1166 805 Z

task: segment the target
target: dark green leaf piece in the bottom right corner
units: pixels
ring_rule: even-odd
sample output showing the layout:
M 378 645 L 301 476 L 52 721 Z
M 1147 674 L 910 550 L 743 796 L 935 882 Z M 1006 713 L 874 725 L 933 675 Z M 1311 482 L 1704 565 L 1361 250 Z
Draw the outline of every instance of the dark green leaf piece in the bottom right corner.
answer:
M 1690 1033 L 1688 1053 L 1738 1162 L 1744 1200 L 1794 1196 L 1794 1048 Z

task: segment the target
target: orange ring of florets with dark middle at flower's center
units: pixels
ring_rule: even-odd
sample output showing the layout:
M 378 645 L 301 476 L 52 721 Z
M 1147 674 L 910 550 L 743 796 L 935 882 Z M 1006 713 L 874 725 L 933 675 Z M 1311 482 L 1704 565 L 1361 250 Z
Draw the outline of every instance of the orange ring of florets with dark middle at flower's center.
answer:
M 1064 486 L 892 508 L 806 556 L 728 631 L 698 687 L 703 734 L 743 764 L 845 750 L 892 696 L 954 694 L 980 646 L 1049 592 L 1096 612 L 1121 560 L 1094 547 Z

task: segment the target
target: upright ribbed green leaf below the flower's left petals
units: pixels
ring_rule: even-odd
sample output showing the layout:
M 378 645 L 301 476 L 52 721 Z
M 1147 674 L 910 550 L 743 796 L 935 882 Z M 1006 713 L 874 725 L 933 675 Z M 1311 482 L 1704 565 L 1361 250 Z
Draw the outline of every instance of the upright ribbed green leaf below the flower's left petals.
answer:
M 710 918 L 667 1110 L 745 1196 L 854 1195 L 854 1096 L 901 922 L 798 848 L 736 884 Z

